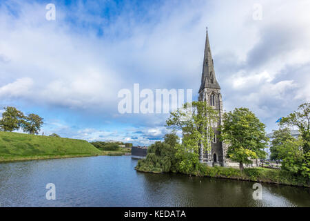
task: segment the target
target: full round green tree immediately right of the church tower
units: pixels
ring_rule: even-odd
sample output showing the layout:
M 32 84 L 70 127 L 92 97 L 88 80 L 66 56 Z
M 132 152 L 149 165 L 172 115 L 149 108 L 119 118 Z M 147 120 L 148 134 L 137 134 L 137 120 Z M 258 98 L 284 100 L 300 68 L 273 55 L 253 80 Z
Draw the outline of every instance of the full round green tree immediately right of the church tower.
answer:
M 263 149 L 268 138 L 265 124 L 262 124 L 248 108 L 235 108 L 225 113 L 223 126 L 220 126 L 221 140 L 229 144 L 227 157 L 239 162 L 242 171 L 243 164 L 251 164 L 252 159 L 265 158 Z

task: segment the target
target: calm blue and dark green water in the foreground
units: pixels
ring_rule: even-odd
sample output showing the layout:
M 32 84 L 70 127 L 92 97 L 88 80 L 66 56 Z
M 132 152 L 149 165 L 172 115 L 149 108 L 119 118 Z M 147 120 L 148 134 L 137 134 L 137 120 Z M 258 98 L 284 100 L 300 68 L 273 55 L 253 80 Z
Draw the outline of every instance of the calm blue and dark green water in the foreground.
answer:
M 0 164 L 0 206 L 310 206 L 309 189 L 253 182 L 139 173 L 136 160 L 81 157 Z M 56 185 L 46 200 L 45 185 Z

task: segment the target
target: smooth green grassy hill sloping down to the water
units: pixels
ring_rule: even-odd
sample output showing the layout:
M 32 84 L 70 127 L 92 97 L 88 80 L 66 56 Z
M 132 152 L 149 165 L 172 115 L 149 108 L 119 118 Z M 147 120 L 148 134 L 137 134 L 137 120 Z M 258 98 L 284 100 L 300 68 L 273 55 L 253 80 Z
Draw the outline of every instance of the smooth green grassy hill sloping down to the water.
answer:
M 85 140 L 0 131 L 0 162 L 101 155 Z

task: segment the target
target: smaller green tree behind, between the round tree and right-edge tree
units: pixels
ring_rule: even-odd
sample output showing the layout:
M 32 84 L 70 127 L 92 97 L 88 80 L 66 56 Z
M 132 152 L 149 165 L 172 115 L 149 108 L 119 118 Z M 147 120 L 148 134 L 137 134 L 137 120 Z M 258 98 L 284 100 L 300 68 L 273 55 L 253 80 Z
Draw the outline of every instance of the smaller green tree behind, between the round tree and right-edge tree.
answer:
M 291 136 L 289 128 L 280 128 L 278 131 L 273 131 L 272 139 L 270 160 L 282 160 L 280 157 L 280 148 L 282 148 L 285 142 L 294 141 L 295 138 Z

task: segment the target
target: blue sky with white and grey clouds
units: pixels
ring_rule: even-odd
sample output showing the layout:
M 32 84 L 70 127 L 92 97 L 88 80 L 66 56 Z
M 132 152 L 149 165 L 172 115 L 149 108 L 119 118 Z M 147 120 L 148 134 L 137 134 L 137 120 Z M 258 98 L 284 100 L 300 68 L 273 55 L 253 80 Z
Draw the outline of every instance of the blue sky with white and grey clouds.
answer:
M 46 19 L 52 3 L 55 19 Z M 149 145 L 165 113 L 118 111 L 122 89 L 192 89 L 208 27 L 226 111 L 266 125 L 310 101 L 310 1 L 0 1 L 0 108 L 44 118 L 41 132 Z

